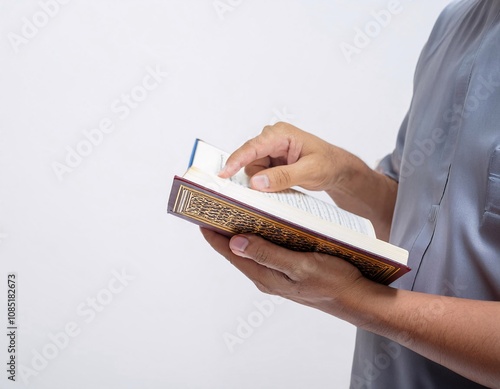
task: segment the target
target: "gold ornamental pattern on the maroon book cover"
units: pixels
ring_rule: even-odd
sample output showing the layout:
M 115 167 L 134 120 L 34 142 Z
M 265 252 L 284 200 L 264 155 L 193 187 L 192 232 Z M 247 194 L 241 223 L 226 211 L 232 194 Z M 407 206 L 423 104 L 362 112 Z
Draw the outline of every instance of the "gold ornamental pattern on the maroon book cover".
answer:
M 182 203 L 181 198 L 183 198 Z M 204 207 L 200 204 L 195 204 L 194 206 L 192 206 L 194 202 L 204 203 L 206 206 Z M 208 213 L 210 213 L 210 211 L 214 209 L 218 209 L 218 211 L 215 211 L 215 213 L 219 212 L 219 214 L 208 215 Z M 274 243 L 288 247 L 290 246 L 289 243 L 291 240 L 295 245 L 295 247 L 289 247 L 292 250 L 316 251 L 342 257 L 353 265 L 357 266 L 366 277 L 380 283 L 386 283 L 389 278 L 391 278 L 400 270 L 396 266 L 379 261 L 358 251 L 340 246 L 339 244 L 320 239 L 317 236 L 311 235 L 310 233 L 303 230 L 299 230 L 297 228 L 291 227 L 290 225 L 278 222 L 247 208 L 232 204 L 217 197 L 216 195 L 210 195 L 183 184 L 179 186 L 179 191 L 175 199 L 173 211 L 188 218 L 197 220 L 201 223 L 213 226 L 217 229 L 227 231 L 231 234 L 238 234 L 243 232 L 257 233 Z M 234 217 L 235 220 L 241 220 L 250 217 L 253 219 L 252 223 L 250 223 L 252 224 L 252 228 L 247 230 L 239 230 L 234 227 L 228 227 L 230 225 L 228 223 L 228 218 L 221 219 L 221 213 L 229 214 L 229 216 Z M 219 219 L 217 219 L 217 217 Z M 249 223 L 245 223 L 245 226 L 247 224 Z M 265 227 L 259 228 L 259 226 Z M 269 232 L 270 226 L 272 227 L 272 230 L 274 230 L 274 233 Z M 288 236 L 288 244 L 284 244 L 282 241 L 280 241 L 282 240 L 281 238 L 276 238 L 276 236 L 280 236 L 277 235 L 276 230 L 279 231 L 279 234 Z M 313 248 L 313 250 L 311 250 L 311 248 Z

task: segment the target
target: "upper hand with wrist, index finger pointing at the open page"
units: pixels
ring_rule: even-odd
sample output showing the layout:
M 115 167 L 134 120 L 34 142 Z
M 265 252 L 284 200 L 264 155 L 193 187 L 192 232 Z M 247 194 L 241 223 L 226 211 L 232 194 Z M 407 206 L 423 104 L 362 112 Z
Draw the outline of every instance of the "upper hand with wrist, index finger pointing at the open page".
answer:
M 398 185 L 344 149 L 280 122 L 232 153 L 219 176 L 242 167 L 260 191 L 324 190 L 341 208 L 371 220 L 379 239 L 389 239 Z

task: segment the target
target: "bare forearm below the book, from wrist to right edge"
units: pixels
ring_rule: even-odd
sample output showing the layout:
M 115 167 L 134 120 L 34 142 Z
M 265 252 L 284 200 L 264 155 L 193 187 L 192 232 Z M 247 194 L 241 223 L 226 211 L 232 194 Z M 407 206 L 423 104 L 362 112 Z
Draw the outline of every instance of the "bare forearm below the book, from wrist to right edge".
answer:
M 500 303 L 361 281 L 345 319 L 482 385 L 500 387 Z M 354 290 L 354 289 L 352 289 Z M 372 296 L 367 298 L 366 296 Z M 354 313 L 356 312 L 356 313 Z

